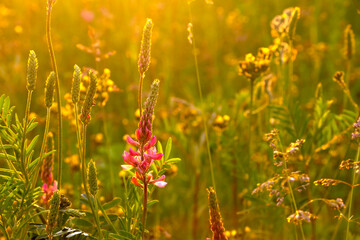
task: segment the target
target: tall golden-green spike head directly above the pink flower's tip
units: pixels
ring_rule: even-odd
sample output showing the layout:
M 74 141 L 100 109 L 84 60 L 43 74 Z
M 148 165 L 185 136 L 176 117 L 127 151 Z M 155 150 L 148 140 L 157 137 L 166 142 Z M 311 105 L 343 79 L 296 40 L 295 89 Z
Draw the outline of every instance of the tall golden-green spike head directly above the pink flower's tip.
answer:
M 146 20 L 146 24 L 143 29 L 143 35 L 141 39 L 140 53 L 138 69 L 140 75 L 145 74 L 149 69 L 151 61 L 151 35 L 152 35 L 153 23 L 150 18 Z

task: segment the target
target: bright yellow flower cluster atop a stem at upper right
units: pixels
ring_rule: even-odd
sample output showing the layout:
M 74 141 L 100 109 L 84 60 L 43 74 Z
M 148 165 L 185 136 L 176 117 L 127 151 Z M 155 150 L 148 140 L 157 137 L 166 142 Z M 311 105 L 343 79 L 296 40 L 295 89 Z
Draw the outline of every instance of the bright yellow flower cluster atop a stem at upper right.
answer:
M 257 56 L 246 54 L 245 60 L 239 63 L 239 75 L 254 81 L 269 69 L 271 52 L 269 48 L 260 48 Z

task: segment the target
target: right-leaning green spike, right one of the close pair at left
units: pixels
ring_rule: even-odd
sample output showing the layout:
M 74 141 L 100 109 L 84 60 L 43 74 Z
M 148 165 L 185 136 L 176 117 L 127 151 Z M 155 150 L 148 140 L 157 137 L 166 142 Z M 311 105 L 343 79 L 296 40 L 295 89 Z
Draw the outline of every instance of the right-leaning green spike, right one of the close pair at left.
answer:
M 90 86 L 86 93 L 85 101 L 81 109 L 80 120 L 84 124 L 88 124 L 90 121 L 91 107 L 93 106 L 94 97 L 96 93 L 97 77 L 93 71 L 89 71 L 90 75 Z

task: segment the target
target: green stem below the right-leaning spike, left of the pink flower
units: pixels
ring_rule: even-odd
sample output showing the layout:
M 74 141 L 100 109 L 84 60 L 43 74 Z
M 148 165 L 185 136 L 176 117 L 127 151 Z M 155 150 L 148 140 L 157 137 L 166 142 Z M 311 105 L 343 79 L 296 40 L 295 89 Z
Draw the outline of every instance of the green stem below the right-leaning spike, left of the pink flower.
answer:
M 83 185 L 84 185 L 84 189 L 85 189 L 85 193 L 86 193 L 86 197 L 87 200 L 89 202 L 90 208 L 91 208 L 91 212 L 93 213 L 94 217 L 95 217 L 95 222 L 96 222 L 96 227 L 98 229 L 99 232 L 99 237 L 100 239 L 103 239 L 103 235 L 101 232 L 101 228 L 100 228 L 100 222 L 98 219 L 98 213 L 95 212 L 95 207 L 93 205 L 93 201 L 92 201 L 92 197 L 90 195 L 87 183 L 86 183 L 86 166 L 85 166 L 85 155 L 86 155 L 86 124 L 83 123 L 83 138 L 82 138 L 82 157 L 80 158 L 81 161 L 81 173 L 82 173 L 82 178 L 83 178 Z M 80 147 L 79 147 L 79 151 L 80 151 Z M 80 154 L 81 155 L 81 154 Z

